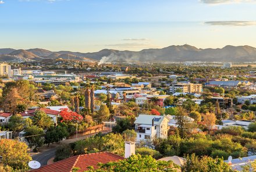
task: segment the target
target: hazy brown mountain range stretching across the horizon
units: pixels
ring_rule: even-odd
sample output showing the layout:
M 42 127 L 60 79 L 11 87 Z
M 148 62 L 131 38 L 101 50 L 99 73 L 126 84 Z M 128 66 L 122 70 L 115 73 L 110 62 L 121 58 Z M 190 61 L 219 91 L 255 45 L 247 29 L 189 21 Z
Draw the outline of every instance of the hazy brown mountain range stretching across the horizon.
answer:
M 45 49 L 15 50 L 0 49 L 0 61 L 31 61 L 45 58 L 74 60 L 100 60 L 101 63 L 113 61 L 256 61 L 256 48 L 251 46 L 230 46 L 222 49 L 198 49 L 190 45 L 168 46 L 162 49 L 144 49 L 139 52 L 103 49 L 94 53 L 59 51 Z

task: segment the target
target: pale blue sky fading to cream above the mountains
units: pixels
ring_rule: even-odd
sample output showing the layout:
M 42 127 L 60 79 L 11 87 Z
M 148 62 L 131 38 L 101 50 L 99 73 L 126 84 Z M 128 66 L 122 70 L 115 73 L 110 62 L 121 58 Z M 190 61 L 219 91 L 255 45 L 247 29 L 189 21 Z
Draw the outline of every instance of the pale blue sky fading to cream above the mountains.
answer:
M 0 0 L 0 48 L 256 47 L 256 0 Z

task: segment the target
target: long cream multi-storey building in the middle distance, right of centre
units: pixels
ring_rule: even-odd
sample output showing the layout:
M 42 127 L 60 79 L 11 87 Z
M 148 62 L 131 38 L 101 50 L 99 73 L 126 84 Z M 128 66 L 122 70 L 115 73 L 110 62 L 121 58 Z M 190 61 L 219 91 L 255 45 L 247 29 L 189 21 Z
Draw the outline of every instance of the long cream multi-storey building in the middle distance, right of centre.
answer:
M 175 82 L 170 85 L 170 92 L 176 93 L 176 90 L 181 90 L 182 93 L 201 93 L 202 92 L 202 85 L 195 84 L 195 83 L 181 83 Z

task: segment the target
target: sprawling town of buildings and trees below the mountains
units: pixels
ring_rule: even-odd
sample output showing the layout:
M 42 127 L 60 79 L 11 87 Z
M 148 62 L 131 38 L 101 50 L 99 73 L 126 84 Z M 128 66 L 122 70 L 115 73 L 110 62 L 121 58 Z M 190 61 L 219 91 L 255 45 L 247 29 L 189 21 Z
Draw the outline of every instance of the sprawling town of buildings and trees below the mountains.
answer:
M 0 64 L 3 170 L 255 170 L 255 64 L 53 63 Z

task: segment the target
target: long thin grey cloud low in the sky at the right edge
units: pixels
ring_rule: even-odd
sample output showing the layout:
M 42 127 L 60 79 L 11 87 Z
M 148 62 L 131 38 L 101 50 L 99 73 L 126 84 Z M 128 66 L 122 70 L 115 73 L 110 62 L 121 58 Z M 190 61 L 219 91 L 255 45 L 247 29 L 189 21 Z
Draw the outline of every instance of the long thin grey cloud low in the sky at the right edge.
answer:
M 227 26 L 249 26 L 256 25 L 256 21 L 207 21 L 209 25 L 227 25 Z

